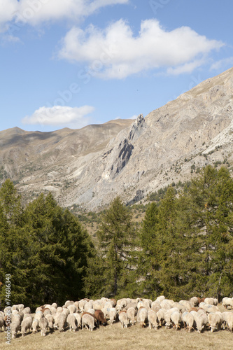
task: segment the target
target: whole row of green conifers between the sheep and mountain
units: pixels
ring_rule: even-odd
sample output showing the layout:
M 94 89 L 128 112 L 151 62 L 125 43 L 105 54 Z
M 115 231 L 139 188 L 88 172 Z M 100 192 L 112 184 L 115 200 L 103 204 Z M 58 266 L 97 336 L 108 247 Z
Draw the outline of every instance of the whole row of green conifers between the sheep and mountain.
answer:
M 1 304 L 81 297 L 233 296 L 233 180 L 207 166 L 151 202 L 140 224 L 116 197 L 92 238 L 51 194 L 22 207 L 13 183 L 0 189 Z

